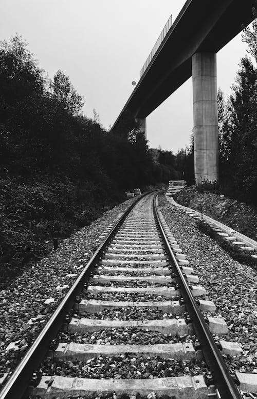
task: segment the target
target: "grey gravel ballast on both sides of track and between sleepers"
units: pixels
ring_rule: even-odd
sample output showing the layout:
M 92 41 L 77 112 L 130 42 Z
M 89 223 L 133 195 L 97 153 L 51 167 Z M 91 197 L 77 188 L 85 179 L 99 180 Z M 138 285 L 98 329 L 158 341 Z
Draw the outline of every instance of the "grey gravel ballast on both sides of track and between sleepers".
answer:
M 221 198 L 221 200 L 223 199 Z M 8 290 L 0 291 L 0 304 L 3 309 L 0 315 L 0 340 L 2 341 L 0 344 L 0 376 L 3 372 L 12 371 L 19 363 L 68 288 L 76 280 L 80 271 L 83 270 L 83 266 L 87 263 L 91 254 L 98 247 L 100 243 L 99 235 L 106 227 L 111 227 L 115 217 L 133 201 L 127 201 L 106 212 L 90 226 L 76 232 L 57 251 L 52 252 L 49 257 L 43 259 L 29 272 L 17 277 L 17 280 Z M 256 274 L 252 268 L 234 261 L 217 242 L 198 229 L 195 220 L 192 220 L 182 210 L 170 205 L 163 195 L 159 197 L 159 208 L 180 248 L 186 254 L 190 266 L 199 276 L 200 284 L 206 288 L 206 297 L 215 303 L 217 307 L 215 315 L 225 318 L 229 326 L 229 333 L 225 339 L 238 342 L 243 349 L 242 356 L 238 358 L 223 355 L 231 373 L 240 371 L 257 374 Z M 210 216 L 214 217 L 213 214 Z M 225 223 L 225 221 L 223 222 Z M 133 284 L 135 285 L 135 282 Z M 125 286 L 133 286 L 133 284 L 130 282 Z M 110 282 L 104 285 L 120 286 L 120 282 Z M 156 284 L 140 282 L 138 286 L 156 286 Z M 26 287 L 26 290 L 24 287 Z M 54 302 L 49 302 L 51 298 Z M 101 295 L 99 298 L 104 299 Z M 122 300 L 122 296 L 117 296 L 115 299 L 117 300 L 117 298 Z M 156 297 L 151 296 L 151 300 L 156 300 Z M 85 317 L 85 314 L 78 312 L 77 316 Z M 102 320 L 116 320 L 116 318 L 119 320 L 138 320 L 146 316 L 152 320 L 177 317 L 159 310 L 151 311 L 150 315 L 147 309 L 141 309 L 139 312 L 137 308 L 133 307 L 130 309 L 104 310 L 97 314 L 90 314 L 89 317 Z M 150 331 L 138 334 L 133 329 L 127 329 L 125 333 L 125 341 L 124 331 L 119 329 L 97 332 L 94 335 L 60 332 L 59 339 L 62 342 L 75 341 L 107 345 L 122 345 L 124 343 L 142 345 L 147 344 L 150 339 L 152 344 L 173 343 L 177 340 L 176 337 Z M 195 336 L 187 337 L 187 339 L 190 339 L 190 342 L 195 342 Z M 15 343 L 15 349 L 7 349 L 10 343 Z M 206 366 L 197 362 L 173 362 L 170 364 L 169 359 L 154 359 L 151 362 L 155 363 L 151 363 L 144 356 L 139 362 L 134 361 L 133 357 L 127 359 L 121 356 L 117 358 L 100 357 L 97 356 L 86 364 L 80 362 L 74 365 L 68 362 L 57 362 L 52 372 L 57 374 L 56 370 L 59 370 L 60 375 L 62 375 L 66 374 L 68 370 L 70 376 L 85 377 L 91 371 L 90 368 L 94 368 L 98 378 L 101 378 L 102 375 L 105 376 L 106 372 L 110 373 L 109 376 L 107 375 L 109 378 L 113 377 L 114 372 L 115 375 L 119 372 L 118 375 L 121 378 L 126 378 L 128 373 L 132 373 L 129 376 L 132 378 L 149 378 L 152 375 L 152 369 L 156 369 L 156 366 L 159 370 L 157 370 L 157 375 L 153 375 L 153 377 L 166 376 L 167 373 L 172 376 L 175 370 L 182 374 L 197 375 L 199 368 L 204 369 Z M 172 369 L 173 366 L 174 370 Z M 45 364 L 43 367 L 47 370 L 49 365 Z M 115 396 L 114 393 L 110 397 L 117 399 L 117 396 Z M 155 396 L 148 397 L 148 399 L 154 398 Z M 136 396 L 133 399 L 136 399 Z

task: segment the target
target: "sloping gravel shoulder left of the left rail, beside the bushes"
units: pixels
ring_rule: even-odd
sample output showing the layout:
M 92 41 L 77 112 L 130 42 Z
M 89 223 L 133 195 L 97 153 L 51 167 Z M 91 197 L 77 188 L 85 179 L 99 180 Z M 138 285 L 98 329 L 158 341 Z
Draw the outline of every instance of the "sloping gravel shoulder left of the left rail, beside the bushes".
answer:
M 40 262 L 0 291 L 0 377 L 12 372 L 99 246 L 99 236 L 112 227 L 136 198 L 105 212 L 78 230 Z M 45 304 L 53 298 L 54 302 Z M 7 349 L 10 344 L 15 347 Z

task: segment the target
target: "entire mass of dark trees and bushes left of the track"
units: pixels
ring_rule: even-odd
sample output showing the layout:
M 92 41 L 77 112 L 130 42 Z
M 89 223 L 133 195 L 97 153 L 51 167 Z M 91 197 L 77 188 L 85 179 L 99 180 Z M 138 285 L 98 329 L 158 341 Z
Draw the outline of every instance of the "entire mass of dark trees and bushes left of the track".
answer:
M 0 43 L 0 82 L 0 283 L 125 190 L 180 177 L 171 152 L 153 159 L 128 110 L 110 131 L 96 110 L 84 116 L 69 77 L 51 81 L 20 36 Z

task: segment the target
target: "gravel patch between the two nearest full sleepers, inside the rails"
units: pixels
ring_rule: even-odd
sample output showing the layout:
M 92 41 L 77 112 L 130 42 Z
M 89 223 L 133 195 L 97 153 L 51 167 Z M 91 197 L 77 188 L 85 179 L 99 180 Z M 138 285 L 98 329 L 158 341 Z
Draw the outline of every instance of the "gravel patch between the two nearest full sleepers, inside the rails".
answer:
M 208 371 L 205 361 L 162 359 L 159 356 L 134 357 L 133 354 L 121 354 L 118 357 L 95 356 L 86 363 L 82 361 L 45 360 L 40 372 L 43 375 L 63 375 L 79 378 L 145 378 L 181 377 L 200 375 Z

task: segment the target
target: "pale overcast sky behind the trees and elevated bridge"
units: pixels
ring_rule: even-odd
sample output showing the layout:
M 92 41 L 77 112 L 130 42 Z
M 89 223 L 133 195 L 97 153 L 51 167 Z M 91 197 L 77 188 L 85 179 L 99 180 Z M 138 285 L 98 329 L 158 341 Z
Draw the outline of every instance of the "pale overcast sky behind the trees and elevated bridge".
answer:
M 84 113 L 95 108 L 102 125 L 112 125 L 130 96 L 132 81 L 172 14 L 184 0 L 1 0 L 0 40 L 16 32 L 29 44 L 52 78 L 69 75 L 85 98 Z M 246 45 L 237 35 L 217 54 L 218 86 L 231 91 Z M 146 120 L 150 147 L 176 152 L 189 143 L 193 126 L 192 78 Z

